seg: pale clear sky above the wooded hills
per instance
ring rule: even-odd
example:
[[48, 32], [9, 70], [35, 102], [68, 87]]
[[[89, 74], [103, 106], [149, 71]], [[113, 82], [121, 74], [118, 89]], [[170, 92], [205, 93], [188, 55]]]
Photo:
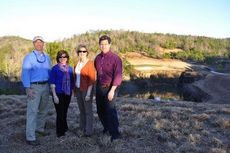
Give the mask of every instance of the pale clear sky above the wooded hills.
[[229, 0], [1, 0], [0, 36], [47, 41], [94, 30], [230, 37]]

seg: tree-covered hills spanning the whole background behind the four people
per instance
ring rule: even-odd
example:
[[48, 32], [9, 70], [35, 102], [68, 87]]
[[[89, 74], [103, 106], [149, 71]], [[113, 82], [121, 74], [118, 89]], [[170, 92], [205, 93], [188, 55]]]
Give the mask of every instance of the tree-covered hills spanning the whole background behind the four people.
[[[209, 62], [213, 58], [230, 57], [230, 38], [215, 39], [201, 36], [185, 36], [175, 34], [141, 33], [135, 31], [91, 31], [73, 35], [62, 41], [47, 42], [46, 51], [53, 61], [58, 50], [66, 49], [70, 56], [76, 56], [74, 49], [79, 43], [86, 43], [91, 51], [91, 57], [98, 51], [98, 38], [108, 34], [112, 38], [113, 50], [140, 52], [153, 58], [177, 58]], [[20, 74], [24, 55], [32, 49], [31, 40], [17, 36], [0, 37], [0, 72], [9, 78]], [[125, 57], [125, 56], [123, 56]], [[74, 62], [72, 58], [71, 63]], [[125, 60], [125, 59], [123, 59]]]

